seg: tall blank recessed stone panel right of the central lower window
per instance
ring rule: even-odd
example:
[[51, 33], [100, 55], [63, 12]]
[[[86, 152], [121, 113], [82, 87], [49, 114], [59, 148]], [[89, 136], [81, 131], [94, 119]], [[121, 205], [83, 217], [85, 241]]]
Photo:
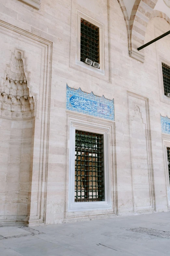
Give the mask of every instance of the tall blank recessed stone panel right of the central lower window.
[[128, 93], [134, 213], [155, 211], [148, 98]]

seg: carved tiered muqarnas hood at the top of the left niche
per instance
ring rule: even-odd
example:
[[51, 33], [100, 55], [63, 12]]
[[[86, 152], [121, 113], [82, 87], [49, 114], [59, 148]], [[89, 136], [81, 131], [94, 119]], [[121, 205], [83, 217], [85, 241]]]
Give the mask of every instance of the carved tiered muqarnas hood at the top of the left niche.
[[[28, 111], [31, 111], [31, 115], [34, 115], [35, 103], [33, 96], [30, 95], [28, 83], [29, 72], [27, 72], [24, 51], [15, 49], [10, 64], [7, 65], [5, 76], [1, 79], [1, 114], [4, 111], [11, 111], [13, 117], [21, 117], [22, 115], [18, 112], [26, 112], [24, 117], [30, 117]], [[17, 112], [15, 115], [14, 111]]]

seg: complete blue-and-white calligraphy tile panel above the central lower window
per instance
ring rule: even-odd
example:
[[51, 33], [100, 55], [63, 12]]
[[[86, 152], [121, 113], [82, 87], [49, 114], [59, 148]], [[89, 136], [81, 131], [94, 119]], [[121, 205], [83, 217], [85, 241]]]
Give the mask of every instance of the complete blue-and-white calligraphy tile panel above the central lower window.
[[66, 109], [114, 121], [114, 99], [99, 97], [67, 85]]

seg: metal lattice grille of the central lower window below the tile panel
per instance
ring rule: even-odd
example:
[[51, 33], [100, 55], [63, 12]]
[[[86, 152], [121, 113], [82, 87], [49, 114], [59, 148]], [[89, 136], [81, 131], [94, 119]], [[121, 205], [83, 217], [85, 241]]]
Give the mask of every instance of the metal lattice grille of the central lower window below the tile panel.
[[76, 130], [75, 202], [104, 200], [103, 135]]

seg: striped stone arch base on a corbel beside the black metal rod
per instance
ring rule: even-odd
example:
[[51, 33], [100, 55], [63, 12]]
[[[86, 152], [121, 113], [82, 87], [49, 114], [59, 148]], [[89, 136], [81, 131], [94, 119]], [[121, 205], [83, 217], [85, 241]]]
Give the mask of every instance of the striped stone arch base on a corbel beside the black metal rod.
[[[152, 15], [155, 15], [156, 13], [153, 9], [158, 0], [135, 0], [130, 18], [128, 17], [124, 1], [118, 0], [118, 2], [123, 12], [128, 31], [129, 55], [136, 60], [144, 62], [144, 49], [138, 51], [137, 48], [144, 44], [146, 28]], [[160, 11], [157, 11], [156, 15], [163, 14], [161, 14]], [[167, 17], [167, 20], [168, 19], [169, 18]]]

